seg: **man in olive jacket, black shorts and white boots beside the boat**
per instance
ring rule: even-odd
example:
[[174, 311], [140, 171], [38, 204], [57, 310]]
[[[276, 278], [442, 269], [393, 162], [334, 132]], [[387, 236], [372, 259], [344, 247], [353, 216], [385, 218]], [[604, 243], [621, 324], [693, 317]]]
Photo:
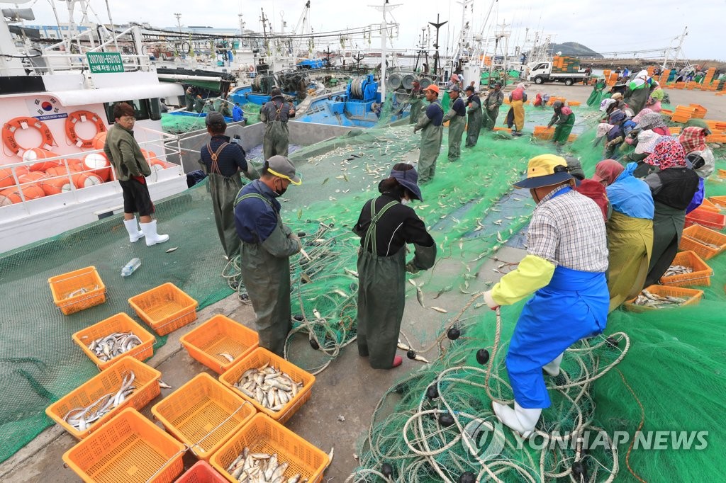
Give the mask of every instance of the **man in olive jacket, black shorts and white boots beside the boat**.
[[[145, 236], [147, 246], [163, 243], [169, 236], [157, 234], [156, 220], [151, 218], [154, 203], [146, 184], [151, 168], [141, 152], [141, 146], [134, 139], [134, 108], [126, 102], [118, 102], [113, 106], [113, 118], [115, 123], [108, 130], [103, 152], [123, 190], [123, 225], [129, 232], [129, 241], [134, 243]], [[136, 212], [139, 213], [141, 231], [136, 227]]]

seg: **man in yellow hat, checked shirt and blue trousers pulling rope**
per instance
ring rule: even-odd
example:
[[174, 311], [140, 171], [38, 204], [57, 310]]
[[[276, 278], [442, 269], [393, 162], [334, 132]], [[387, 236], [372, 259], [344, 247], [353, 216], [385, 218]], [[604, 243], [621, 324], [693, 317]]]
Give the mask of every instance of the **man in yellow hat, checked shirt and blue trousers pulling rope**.
[[518, 268], [484, 293], [495, 310], [534, 293], [512, 334], [506, 365], [514, 408], [492, 401], [503, 424], [529, 437], [550, 407], [542, 370], [558, 376], [563, 352], [579, 339], [602, 333], [608, 318], [608, 241], [603, 214], [574, 187], [567, 162], [554, 154], [529, 160], [529, 189], [537, 203], [527, 232], [527, 255]]

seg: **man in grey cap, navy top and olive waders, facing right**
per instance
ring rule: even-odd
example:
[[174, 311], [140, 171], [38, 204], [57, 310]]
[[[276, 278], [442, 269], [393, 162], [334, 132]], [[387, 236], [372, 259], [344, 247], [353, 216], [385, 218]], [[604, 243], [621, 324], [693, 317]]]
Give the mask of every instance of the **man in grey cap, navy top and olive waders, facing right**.
[[255, 310], [260, 346], [282, 355], [290, 319], [290, 255], [302, 249], [298, 236], [282, 223], [280, 202], [290, 184], [301, 184], [284, 156], [265, 161], [262, 176], [240, 190], [234, 224], [242, 240], [240, 273]]

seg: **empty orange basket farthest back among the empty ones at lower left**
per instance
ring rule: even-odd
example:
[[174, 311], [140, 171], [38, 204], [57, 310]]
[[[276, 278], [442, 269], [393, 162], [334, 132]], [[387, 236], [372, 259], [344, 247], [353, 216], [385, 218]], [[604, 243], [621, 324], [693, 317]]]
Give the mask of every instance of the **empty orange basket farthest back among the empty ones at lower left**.
[[129, 305], [157, 334], [166, 335], [195, 321], [199, 303], [176, 285], [166, 283], [134, 295]]

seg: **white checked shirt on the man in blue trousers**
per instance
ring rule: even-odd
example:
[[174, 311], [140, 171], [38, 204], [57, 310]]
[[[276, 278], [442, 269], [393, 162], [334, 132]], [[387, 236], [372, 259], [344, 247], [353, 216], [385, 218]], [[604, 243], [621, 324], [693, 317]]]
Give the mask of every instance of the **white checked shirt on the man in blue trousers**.
[[561, 186], [534, 208], [527, 252], [555, 265], [582, 272], [608, 269], [603, 213], [592, 199]]

